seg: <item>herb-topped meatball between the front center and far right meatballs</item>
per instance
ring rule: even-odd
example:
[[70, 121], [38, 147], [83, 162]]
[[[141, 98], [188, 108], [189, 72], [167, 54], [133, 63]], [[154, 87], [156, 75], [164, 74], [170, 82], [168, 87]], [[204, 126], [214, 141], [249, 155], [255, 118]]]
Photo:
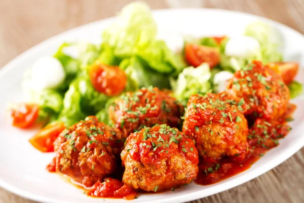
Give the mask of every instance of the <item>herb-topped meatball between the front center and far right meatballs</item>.
[[201, 156], [245, 158], [247, 120], [234, 104], [236, 102], [226, 93], [189, 98], [182, 131], [196, 141]]

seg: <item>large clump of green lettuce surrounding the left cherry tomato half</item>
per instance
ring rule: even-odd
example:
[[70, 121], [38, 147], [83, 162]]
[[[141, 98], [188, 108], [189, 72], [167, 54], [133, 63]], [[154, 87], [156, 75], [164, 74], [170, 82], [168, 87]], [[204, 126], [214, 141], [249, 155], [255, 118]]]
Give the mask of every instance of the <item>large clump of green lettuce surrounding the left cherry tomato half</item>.
[[115, 97], [95, 90], [88, 71], [95, 60], [117, 65], [128, 82], [125, 91], [155, 86], [171, 89], [169, 77], [177, 76], [187, 64], [181, 54], [172, 52], [156, 39], [157, 24], [144, 3], [123, 8], [115, 23], [102, 33], [102, 44], [63, 43], [54, 54], [65, 71], [64, 82], [56, 89], [34, 91], [42, 119], [57, 120], [70, 126], [88, 115], [108, 123], [106, 110]]

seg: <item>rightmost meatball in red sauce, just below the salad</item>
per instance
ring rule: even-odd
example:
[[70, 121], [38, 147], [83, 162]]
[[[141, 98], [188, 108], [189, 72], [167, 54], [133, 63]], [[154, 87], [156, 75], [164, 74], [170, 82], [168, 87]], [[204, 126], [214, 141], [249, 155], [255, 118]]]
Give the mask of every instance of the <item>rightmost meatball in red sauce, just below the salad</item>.
[[238, 101], [239, 109], [251, 117], [277, 119], [287, 110], [288, 87], [278, 73], [258, 61], [235, 72], [227, 83], [227, 92]]

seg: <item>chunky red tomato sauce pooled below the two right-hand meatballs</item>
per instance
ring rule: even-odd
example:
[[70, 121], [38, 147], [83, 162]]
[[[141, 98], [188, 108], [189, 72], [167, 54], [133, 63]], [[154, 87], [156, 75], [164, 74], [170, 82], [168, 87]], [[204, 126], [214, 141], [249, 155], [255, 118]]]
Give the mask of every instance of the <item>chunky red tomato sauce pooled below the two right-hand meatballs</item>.
[[210, 185], [248, 170], [267, 151], [279, 145], [279, 139], [288, 134], [291, 127], [286, 122], [292, 120], [291, 115], [295, 108], [295, 105], [289, 104], [282, 118], [278, 120], [257, 119], [249, 127], [249, 149], [248, 155], [244, 160], [238, 161], [238, 157], [224, 157], [219, 160], [201, 158], [199, 161], [199, 173], [195, 182], [200, 185]]

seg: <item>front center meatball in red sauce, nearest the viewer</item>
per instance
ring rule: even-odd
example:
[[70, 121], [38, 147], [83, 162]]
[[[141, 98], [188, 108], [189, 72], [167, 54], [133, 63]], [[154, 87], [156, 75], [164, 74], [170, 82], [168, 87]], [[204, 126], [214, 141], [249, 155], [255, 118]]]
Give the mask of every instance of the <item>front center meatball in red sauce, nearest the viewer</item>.
[[166, 124], [131, 133], [121, 154], [123, 182], [144, 191], [161, 191], [191, 183], [198, 173], [194, 141]]

